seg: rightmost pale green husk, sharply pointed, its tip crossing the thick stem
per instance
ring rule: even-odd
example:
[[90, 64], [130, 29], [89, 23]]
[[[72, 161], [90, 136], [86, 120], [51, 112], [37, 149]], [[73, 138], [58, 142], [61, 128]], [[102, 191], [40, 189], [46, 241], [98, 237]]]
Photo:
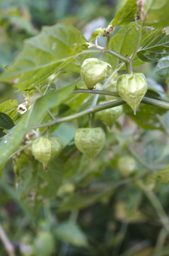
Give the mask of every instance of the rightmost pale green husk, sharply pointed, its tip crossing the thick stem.
[[117, 80], [117, 92], [127, 104], [132, 107], [134, 114], [147, 91], [147, 82], [144, 74], [121, 75]]

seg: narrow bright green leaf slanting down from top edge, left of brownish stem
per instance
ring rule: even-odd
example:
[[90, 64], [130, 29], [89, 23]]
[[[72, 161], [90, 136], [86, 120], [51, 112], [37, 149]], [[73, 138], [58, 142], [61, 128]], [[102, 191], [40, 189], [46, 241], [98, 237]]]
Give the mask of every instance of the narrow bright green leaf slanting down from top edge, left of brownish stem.
[[117, 11], [115, 18], [110, 22], [113, 26], [124, 26], [134, 19], [136, 14], [136, 0], [127, 0], [122, 9]]

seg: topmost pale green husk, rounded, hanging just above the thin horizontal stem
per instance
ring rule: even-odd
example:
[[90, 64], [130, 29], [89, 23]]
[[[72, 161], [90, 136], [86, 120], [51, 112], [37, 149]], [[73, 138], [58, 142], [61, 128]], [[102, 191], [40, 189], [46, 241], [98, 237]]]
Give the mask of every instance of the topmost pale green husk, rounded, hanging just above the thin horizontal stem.
[[88, 58], [81, 65], [81, 78], [88, 89], [93, 89], [98, 82], [105, 80], [111, 72], [111, 65], [98, 60], [98, 58]]

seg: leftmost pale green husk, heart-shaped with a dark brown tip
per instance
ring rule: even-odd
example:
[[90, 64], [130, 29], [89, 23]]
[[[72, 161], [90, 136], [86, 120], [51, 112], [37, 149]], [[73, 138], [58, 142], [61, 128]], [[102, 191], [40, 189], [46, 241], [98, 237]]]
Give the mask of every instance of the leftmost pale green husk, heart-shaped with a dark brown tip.
[[49, 161], [52, 161], [54, 158], [59, 156], [61, 151], [62, 142], [56, 137], [52, 137], [50, 139], [38, 137], [32, 145], [33, 156], [42, 163], [45, 170], [47, 170], [47, 164], [49, 164]]

